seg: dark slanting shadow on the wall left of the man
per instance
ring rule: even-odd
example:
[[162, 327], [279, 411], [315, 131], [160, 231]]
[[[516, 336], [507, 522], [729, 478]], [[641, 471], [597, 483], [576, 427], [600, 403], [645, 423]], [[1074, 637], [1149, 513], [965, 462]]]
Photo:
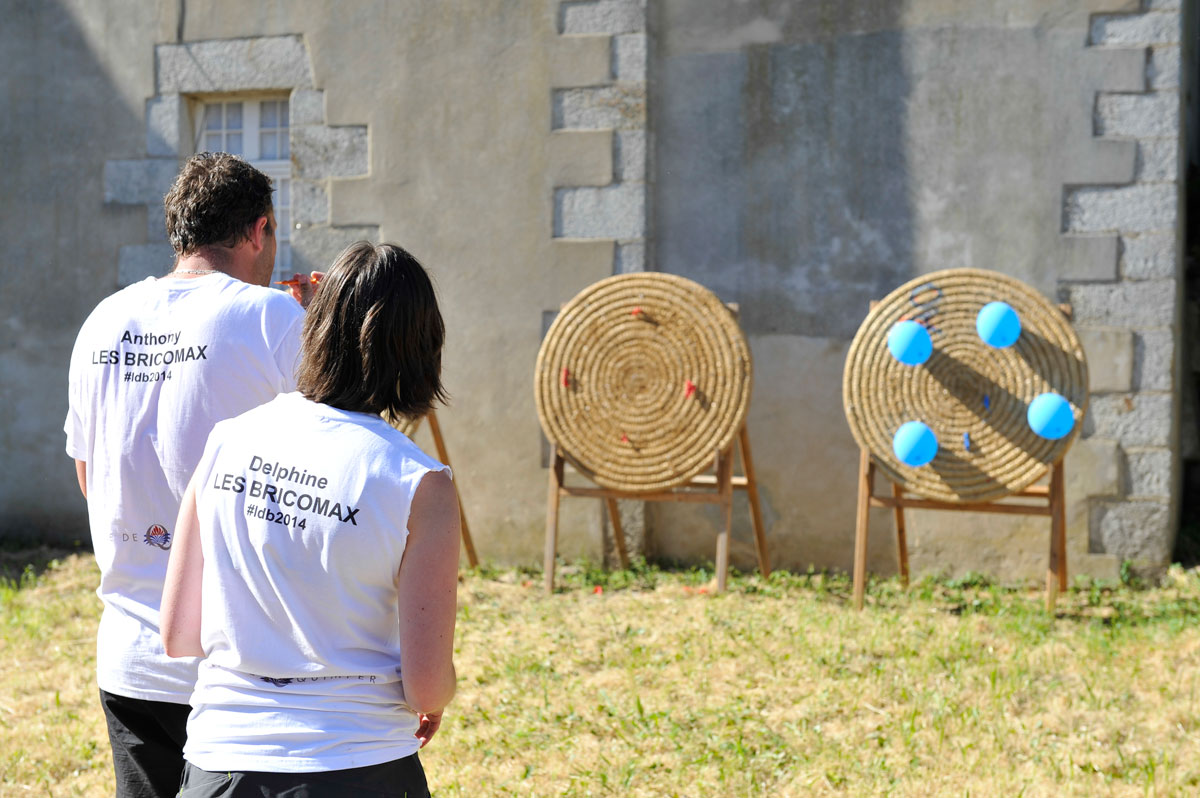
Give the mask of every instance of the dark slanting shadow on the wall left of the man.
[[88, 312], [116, 287], [119, 245], [145, 236], [144, 209], [104, 206], [102, 185], [106, 158], [144, 152], [145, 127], [97, 58], [79, 14], [106, 10], [0, 2], [5, 545], [89, 540], [74, 467], [64, 452], [71, 346]]

